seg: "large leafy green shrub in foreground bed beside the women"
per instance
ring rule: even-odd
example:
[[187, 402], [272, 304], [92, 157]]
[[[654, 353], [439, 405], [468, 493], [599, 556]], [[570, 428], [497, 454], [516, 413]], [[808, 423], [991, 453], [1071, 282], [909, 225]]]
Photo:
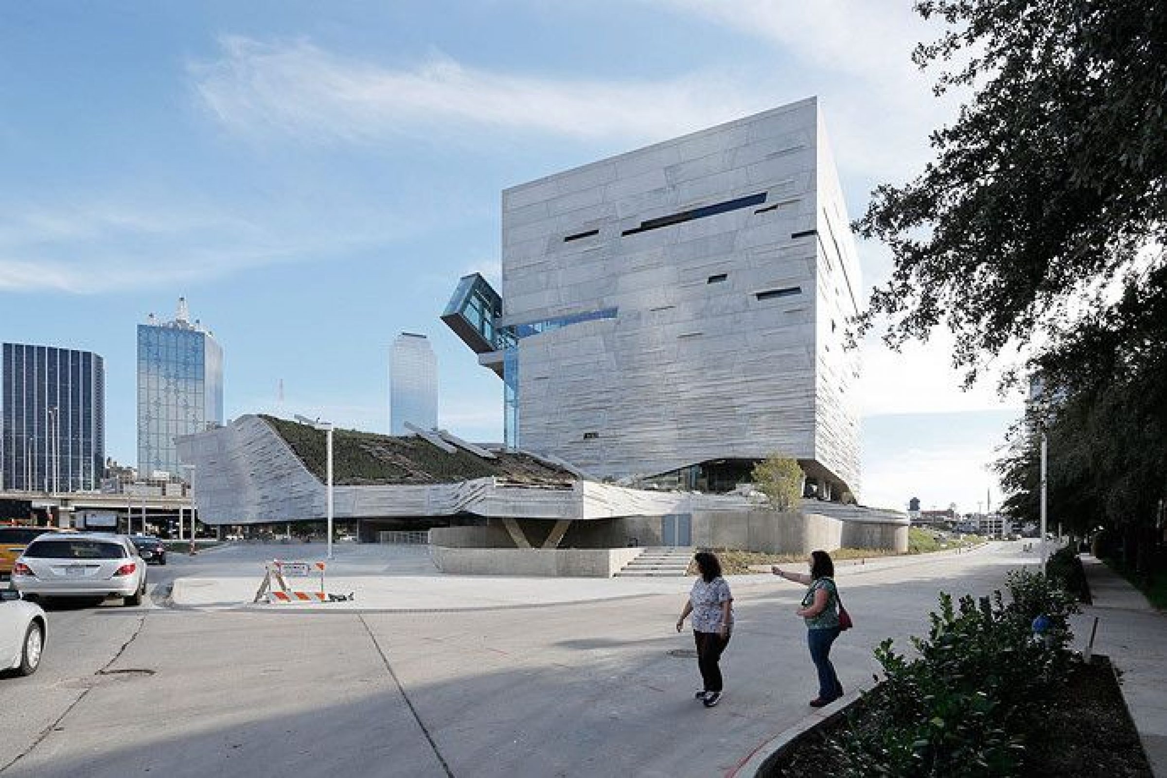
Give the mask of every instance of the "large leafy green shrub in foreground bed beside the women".
[[[942, 594], [918, 657], [883, 640], [875, 658], [885, 681], [832, 744], [847, 778], [864, 776], [1014, 776], [1023, 771], [1023, 735], [1042, 700], [1063, 678], [1072, 638], [1072, 597], [1043, 574], [1011, 573], [1012, 602], [1000, 591], [953, 602]], [[1033, 619], [1050, 628], [1035, 639]], [[876, 679], [878, 680], [878, 679]]]

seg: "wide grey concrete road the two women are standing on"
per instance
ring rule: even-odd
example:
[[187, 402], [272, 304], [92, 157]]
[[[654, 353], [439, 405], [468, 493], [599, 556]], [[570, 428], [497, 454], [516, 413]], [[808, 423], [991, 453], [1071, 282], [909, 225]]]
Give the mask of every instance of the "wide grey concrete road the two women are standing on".
[[[922, 632], [937, 591], [1001, 587], [1032, 562], [1020, 548], [840, 568], [857, 622], [832, 654], [844, 685], [871, 681], [881, 638]], [[410, 614], [158, 602], [212, 565], [151, 568], [159, 596], [141, 608], [54, 608], [37, 674], [0, 679], [0, 776], [726, 775], [816, 692], [802, 589], [773, 577], [735, 591], [726, 696], [706, 710], [692, 637], [672, 628], [682, 596]]]

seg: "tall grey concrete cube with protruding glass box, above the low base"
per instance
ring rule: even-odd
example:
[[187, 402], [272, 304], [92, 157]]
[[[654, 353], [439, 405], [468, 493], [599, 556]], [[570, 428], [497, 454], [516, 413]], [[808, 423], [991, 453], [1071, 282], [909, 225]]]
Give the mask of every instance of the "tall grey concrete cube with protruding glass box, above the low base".
[[859, 262], [815, 98], [520, 184], [502, 289], [442, 318], [504, 381], [508, 446], [721, 491], [775, 451], [859, 496]]

